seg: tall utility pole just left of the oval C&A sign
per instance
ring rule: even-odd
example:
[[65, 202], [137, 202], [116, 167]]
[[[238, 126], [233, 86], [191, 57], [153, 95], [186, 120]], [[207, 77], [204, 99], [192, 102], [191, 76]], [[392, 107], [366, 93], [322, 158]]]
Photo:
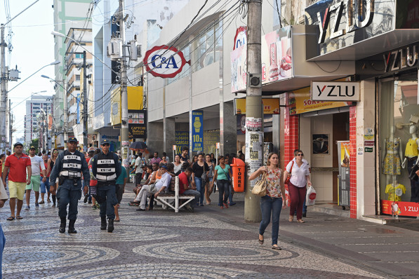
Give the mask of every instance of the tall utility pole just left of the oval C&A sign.
[[121, 156], [123, 167], [126, 173], [129, 173], [128, 162], [128, 92], [126, 88], [126, 51], [125, 51], [125, 17], [124, 0], [119, 0], [119, 32], [122, 40], [122, 58], [121, 58]]

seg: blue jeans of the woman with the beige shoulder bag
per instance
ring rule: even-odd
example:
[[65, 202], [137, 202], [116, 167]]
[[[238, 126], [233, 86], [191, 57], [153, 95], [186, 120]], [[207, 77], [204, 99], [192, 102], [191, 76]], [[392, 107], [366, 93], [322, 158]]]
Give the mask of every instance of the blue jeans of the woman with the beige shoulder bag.
[[262, 222], [259, 226], [259, 234], [263, 236], [267, 225], [271, 221], [272, 212], [272, 245], [278, 244], [279, 215], [281, 215], [282, 198], [271, 198], [264, 196], [260, 198], [260, 209], [262, 210]]

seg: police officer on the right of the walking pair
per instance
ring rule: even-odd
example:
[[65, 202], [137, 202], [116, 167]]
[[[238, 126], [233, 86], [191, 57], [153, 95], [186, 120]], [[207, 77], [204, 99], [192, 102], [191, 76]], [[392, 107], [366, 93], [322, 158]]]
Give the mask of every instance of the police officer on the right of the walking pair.
[[121, 163], [117, 154], [109, 151], [109, 140], [103, 140], [100, 144], [102, 152], [93, 157], [92, 172], [98, 179], [98, 193], [96, 200], [100, 205], [100, 229], [106, 229], [106, 217], [109, 224], [107, 232], [114, 231], [115, 211], [117, 205], [116, 182], [121, 175]]

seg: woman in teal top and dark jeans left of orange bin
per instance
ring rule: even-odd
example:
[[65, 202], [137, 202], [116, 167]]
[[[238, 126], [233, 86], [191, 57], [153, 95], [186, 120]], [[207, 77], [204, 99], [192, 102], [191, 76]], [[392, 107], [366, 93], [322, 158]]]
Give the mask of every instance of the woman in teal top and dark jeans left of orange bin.
[[228, 175], [230, 177], [232, 176], [232, 170], [230, 169], [230, 165], [225, 164], [225, 158], [224, 156], [218, 156], [218, 163], [214, 170], [214, 178], [211, 182], [210, 189], [213, 189], [214, 181], [217, 180], [217, 186], [218, 186], [218, 203], [220, 204], [221, 209], [222, 208], [228, 208], [227, 200], [228, 196], [230, 195], [230, 182], [228, 180]]

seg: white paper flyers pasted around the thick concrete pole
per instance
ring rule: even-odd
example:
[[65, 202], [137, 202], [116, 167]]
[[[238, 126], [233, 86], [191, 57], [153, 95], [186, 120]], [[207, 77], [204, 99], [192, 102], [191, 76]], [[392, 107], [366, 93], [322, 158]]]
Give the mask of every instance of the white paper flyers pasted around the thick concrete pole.
[[[246, 163], [248, 172], [253, 173], [263, 164], [262, 118], [246, 117]], [[257, 179], [251, 181], [255, 186]]]

